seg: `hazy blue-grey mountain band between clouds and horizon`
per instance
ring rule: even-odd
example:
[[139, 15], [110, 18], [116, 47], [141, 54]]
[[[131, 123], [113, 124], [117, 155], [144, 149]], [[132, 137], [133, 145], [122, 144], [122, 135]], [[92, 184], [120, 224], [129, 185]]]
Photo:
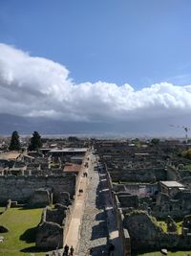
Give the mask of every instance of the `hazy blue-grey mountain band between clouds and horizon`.
[[[11, 114], [0, 114], [0, 134], [9, 135], [13, 130], [19, 134], [32, 134], [37, 130], [41, 134], [96, 134], [135, 136], [181, 136], [185, 133], [183, 128], [172, 128], [169, 125], [189, 126], [188, 117], [163, 119], [142, 119], [128, 122], [88, 123], [66, 122], [49, 118], [21, 117]], [[188, 133], [189, 135], [189, 133]]]

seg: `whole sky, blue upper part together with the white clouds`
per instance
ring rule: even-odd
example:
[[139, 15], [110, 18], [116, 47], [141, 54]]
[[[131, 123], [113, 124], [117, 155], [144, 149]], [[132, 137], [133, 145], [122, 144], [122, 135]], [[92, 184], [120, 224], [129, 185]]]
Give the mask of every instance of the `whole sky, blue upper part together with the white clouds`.
[[0, 0], [0, 113], [189, 116], [190, 0]]

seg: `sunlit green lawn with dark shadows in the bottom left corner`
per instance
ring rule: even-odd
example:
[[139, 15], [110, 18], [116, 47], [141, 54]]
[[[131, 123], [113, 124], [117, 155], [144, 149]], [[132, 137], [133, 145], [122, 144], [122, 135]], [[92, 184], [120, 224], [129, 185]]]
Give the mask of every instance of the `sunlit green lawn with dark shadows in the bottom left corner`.
[[[4, 243], [0, 244], [0, 254], [6, 256], [45, 255], [35, 247], [35, 227], [40, 221], [42, 208], [11, 208], [0, 215], [0, 225], [10, 231], [1, 234]], [[38, 253], [39, 252], [39, 253]]]

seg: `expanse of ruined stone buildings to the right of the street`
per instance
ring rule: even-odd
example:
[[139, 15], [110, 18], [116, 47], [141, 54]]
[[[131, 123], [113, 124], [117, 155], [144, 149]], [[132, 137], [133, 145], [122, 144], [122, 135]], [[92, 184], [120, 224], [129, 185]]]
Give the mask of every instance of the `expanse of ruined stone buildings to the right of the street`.
[[180, 155], [188, 146], [168, 141], [95, 145], [108, 173], [125, 255], [130, 255], [128, 246], [133, 255], [190, 250], [191, 161]]

